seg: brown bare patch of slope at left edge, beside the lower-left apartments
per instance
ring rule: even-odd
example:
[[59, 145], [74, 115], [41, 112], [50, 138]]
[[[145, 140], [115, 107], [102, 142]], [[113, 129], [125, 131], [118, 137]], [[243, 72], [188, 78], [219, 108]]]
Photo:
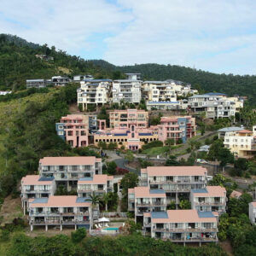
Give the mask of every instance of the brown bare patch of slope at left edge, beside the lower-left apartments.
[[11, 195], [3, 201], [0, 211], [1, 224], [12, 223], [14, 218], [24, 218], [20, 197], [12, 198]]

